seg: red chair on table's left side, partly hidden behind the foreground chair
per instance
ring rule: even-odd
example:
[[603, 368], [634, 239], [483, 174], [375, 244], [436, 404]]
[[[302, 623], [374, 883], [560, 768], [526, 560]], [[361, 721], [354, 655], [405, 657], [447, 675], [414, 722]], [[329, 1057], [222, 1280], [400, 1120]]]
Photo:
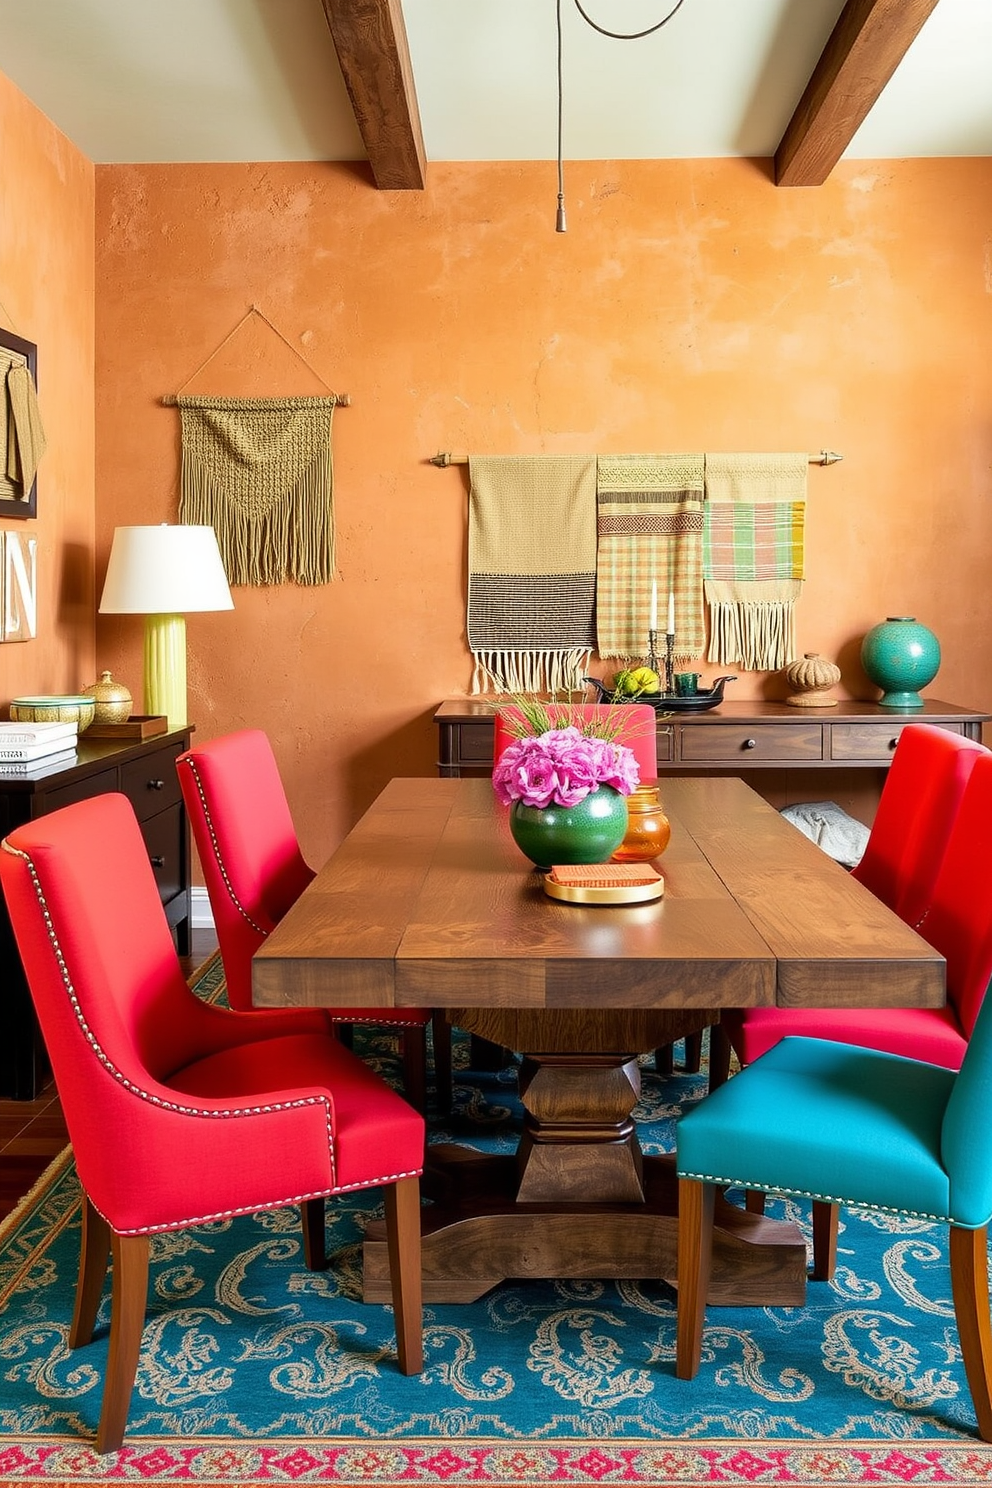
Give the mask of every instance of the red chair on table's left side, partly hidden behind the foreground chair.
[[[280, 769], [260, 729], [226, 734], [180, 754], [175, 768], [207, 882], [232, 1007], [251, 1007], [251, 957], [309, 881]], [[338, 1025], [394, 1028], [410, 1101], [427, 1104], [427, 1007], [327, 1007]], [[443, 1019], [437, 1019], [440, 1025]], [[451, 1103], [451, 1030], [434, 1030], [439, 1104]]]

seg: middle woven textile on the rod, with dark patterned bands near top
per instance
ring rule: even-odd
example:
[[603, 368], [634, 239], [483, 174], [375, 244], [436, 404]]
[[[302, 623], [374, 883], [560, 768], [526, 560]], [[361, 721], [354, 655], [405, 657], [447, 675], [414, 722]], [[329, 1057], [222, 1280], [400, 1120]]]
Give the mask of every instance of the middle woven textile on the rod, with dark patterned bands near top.
[[702, 454], [599, 455], [596, 469], [596, 635], [601, 656], [647, 653], [651, 588], [657, 629], [675, 597], [675, 665], [705, 644]]

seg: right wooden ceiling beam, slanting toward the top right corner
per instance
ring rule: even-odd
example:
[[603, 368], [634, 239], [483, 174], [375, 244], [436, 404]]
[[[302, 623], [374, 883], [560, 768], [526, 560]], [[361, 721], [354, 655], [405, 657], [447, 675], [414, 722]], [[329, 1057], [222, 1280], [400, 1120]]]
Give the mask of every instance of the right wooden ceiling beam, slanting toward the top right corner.
[[776, 186], [822, 186], [937, 0], [848, 0], [775, 152]]

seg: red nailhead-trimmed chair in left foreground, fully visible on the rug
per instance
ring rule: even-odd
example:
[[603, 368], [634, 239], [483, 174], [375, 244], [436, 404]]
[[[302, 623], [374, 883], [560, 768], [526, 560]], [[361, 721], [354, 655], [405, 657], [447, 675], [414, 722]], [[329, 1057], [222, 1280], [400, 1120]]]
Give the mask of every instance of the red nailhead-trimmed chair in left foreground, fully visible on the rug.
[[326, 1019], [189, 990], [125, 796], [18, 827], [0, 881], [85, 1195], [73, 1348], [92, 1338], [113, 1251], [97, 1449], [123, 1437], [162, 1231], [300, 1205], [317, 1266], [324, 1198], [382, 1186], [399, 1362], [419, 1373], [422, 1116]]

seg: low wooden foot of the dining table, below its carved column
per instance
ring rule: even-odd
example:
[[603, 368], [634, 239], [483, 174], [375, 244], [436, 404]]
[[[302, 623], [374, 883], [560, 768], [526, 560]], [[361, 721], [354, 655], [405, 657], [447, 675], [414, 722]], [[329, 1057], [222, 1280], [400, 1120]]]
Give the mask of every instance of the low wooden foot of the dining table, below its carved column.
[[[672, 1158], [644, 1158], [641, 1204], [519, 1204], [518, 1164], [468, 1147], [430, 1150], [422, 1211], [424, 1301], [476, 1302], [501, 1281], [544, 1277], [677, 1278], [678, 1184]], [[364, 1238], [366, 1302], [390, 1302], [385, 1223]], [[803, 1306], [806, 1245], [796, 1225], [717, 1199], [714, 1306]]]

